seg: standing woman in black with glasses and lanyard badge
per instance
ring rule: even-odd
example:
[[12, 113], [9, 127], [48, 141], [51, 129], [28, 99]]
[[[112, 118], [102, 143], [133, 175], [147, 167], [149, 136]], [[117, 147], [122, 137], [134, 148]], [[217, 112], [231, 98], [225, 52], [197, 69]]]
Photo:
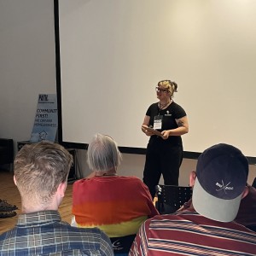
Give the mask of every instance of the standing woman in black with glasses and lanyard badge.
[[[152, 198], [161, 174], [166, 185], [178, 185], [179, 167], [183, 160], [181, 136], [189, 132], [189, 122], [184, 109], [172, 97], [177, 84], [163, 80], [155, 88], [159, 102], [153, 103], [146, 113], [142, 131], [149, 136], [143, 182]], [[160, 131], [155, 135], [149, 128]]]

